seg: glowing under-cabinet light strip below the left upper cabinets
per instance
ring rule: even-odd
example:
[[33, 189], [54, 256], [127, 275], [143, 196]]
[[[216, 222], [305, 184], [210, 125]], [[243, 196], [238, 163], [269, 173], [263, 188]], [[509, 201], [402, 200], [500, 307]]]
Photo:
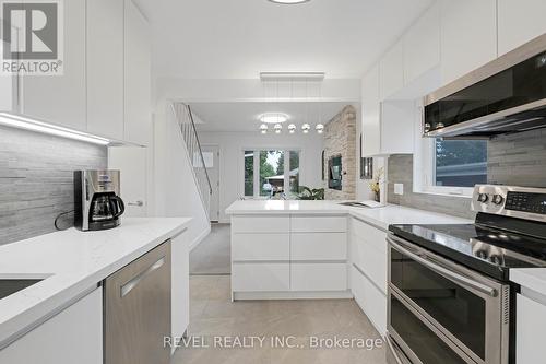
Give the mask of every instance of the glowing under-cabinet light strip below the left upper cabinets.
[[100, 145], [107, 145], [110, 143], [110, 140], [106, 138], [38, 121], [16, 114], [0, 113], [0, 125], [17, 129], [31, 130], [35, 132], [41, 132], [61, 138], [74, 139], [86, 143], [94, 143]]

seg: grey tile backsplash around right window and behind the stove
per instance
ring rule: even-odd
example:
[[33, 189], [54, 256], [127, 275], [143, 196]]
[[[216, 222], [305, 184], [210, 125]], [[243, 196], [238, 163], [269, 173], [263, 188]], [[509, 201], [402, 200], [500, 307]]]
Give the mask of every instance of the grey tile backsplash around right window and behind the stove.
[[[546, 129], [500, 136], [487, 144], [488, 183], [546, 188]], [[413, 155], [389, 157], [389, 203], [474, 219], [467, 198], [414, 193]], [[404, 184], [404, 195], [394, 195]]]

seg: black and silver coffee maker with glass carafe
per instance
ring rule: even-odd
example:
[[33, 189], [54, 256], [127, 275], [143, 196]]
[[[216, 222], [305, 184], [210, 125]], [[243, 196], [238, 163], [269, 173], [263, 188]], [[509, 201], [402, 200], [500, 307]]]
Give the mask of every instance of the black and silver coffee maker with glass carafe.
[[82, 231], [119, 226], [126, 210], [119, 197], [119, 171], [75, 171], [74, 204], [74, 224]]

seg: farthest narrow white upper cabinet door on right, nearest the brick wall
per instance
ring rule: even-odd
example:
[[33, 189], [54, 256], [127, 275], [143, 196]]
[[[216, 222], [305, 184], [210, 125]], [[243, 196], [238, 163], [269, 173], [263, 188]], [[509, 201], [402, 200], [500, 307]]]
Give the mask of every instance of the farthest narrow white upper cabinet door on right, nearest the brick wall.
[[381, 107], [379, 102], [379, 67], [363, 79], [363, 156], [379, 154], [381, 149]]

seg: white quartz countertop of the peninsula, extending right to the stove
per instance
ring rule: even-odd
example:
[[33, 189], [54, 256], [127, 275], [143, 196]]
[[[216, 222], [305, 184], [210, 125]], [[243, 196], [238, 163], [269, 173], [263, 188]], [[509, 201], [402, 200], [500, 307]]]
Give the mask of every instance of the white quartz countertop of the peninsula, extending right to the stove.
[[229, 215], [247, 214], [348, 214], [384, 231], [390, 224], [470, 224], [471, 220], [395, 204], [353, 208], [340, 201], [240, 200], [226, 209]]

